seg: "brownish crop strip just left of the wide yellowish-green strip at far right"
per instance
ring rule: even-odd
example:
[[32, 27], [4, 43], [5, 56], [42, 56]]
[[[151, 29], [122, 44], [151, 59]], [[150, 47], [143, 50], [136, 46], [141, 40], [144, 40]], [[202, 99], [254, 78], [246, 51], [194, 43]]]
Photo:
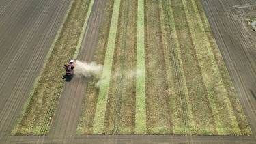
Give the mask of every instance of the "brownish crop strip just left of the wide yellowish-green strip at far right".
[[177, 38], [182, 55], [184, 76], [188, 87], [188, 101], [191, 105], [194, 128], [190, 128], [191, 134], [217, 134], [215, 121], [212, 114], [208, 93], [201, 73], [201, 67], [195, 53], [195, 46], [190, 35], [185, 8], [182, 1], [171, 0], [173, 17], [177, 31]]

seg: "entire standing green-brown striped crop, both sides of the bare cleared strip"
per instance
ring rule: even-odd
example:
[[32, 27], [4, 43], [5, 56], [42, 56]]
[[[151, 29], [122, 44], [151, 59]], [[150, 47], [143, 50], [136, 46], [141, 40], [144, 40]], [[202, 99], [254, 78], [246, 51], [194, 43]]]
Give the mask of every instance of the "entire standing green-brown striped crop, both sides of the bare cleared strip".
[[[93, 3], [72, 1], [48, 63], [77, 55]], [[93, 61], [76, 134], [252, 135], [200, 0], [106, 1]], [[49, 132], [65, 82], [44, 70], [14, 135]]]

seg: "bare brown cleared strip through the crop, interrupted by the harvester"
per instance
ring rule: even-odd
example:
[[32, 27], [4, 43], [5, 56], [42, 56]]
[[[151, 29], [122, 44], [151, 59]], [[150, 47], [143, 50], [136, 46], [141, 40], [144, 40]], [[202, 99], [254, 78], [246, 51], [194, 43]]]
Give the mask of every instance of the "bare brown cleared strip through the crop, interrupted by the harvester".
[[[94, 5], [92, 6], [85, 34], [83, 35], [83, 41], [79, 49], [79, 55], [77, 57], [80, 61], [87, 62], [91, 62], [94, 55], [98, 31], [102, 20], [102, 10], [104, 10], [104, 3], [106, 1], [98, 0], [91, 2], [94, 2]], [[86, 87], [87, 78], [83, 77], [74, 77], [72, 81], [65, 84], [50, 130], [52, 136], [59, 137], [59, 139], [57, 139], [59, 143], [65, 142], [63, 141], [62, 136], [72, 137], [76, 133]], [[72, 143], [72, 141], [68, 141], [68, 143]]]

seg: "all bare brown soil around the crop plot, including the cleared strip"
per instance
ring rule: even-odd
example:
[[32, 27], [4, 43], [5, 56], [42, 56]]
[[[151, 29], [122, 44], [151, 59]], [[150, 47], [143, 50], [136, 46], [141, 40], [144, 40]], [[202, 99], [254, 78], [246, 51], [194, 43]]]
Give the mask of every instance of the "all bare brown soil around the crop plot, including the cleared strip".
[[[255, 135], [256, 47], [253, 44], [256, 34], [249, 30], [245, 19], [256, 17], [253, 13], [256, 3], [254, 0], [201, 1]], [[8, 63], [0, 71], [4, 81], [0, 84], [1, 143], [255, 143], [255, 136], [75, 136], [87, 81], [83, 78], [79, 83], [66, 83], [49, 136], [10, 136], [69, 2], [0, 0], [0, 60]], [[104, 3], [94, 3], [79, 51], [81, 60], [92, 59]]]

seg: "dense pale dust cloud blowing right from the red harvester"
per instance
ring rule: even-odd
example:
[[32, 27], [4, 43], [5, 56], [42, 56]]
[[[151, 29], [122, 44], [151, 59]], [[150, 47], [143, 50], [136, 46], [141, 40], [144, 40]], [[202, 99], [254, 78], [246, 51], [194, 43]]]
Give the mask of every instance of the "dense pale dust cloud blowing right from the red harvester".
[[86, 63], [76, 60], [76, 66], [74, 68], [74, 74], [76, 76], [84, 76], [86, 78], [94, 76], [100, 79], [102, 74], [102, 65], [96, 64], [94, 62]]

